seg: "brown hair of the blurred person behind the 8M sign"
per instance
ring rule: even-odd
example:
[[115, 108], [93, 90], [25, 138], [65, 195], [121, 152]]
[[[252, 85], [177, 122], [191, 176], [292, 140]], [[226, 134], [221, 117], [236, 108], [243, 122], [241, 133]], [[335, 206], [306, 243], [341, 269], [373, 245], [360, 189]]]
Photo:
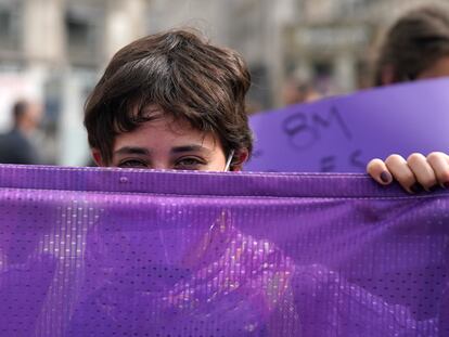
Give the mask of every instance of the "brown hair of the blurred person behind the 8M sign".
[[374, 85], [382, 86], [386, 66], [393, 81], [414, 80], [440, 57], [449, 55], [449, 14], [424, 7], [401, 16], [388, 30], [374, 69]]

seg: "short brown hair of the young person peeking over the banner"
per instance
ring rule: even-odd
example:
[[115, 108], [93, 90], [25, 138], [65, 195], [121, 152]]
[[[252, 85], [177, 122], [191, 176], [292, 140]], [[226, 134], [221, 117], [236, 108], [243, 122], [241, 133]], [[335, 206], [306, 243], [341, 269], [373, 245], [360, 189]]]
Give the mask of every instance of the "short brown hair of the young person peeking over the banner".
[[108, 165], [115, 137], [155, 118], [159, 106], [175, 119], [218, 137], [226, 154], [252, 152], [245, 113], [251, 76], [233, 50], [218, 48], [197, 33], [170, 30], [139, 39], [119, 50], [88, 98], [85, 126], [91, 147]]

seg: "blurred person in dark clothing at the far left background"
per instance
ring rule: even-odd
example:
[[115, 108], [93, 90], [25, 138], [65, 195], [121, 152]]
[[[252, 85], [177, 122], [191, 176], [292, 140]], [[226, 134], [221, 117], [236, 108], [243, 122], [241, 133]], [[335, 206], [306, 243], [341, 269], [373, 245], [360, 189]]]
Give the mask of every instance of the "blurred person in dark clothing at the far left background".
[[33, 141], [42, 118], [42, 107], [36, 102], [17, 101], [12, 108], [13, 127], [0, 135], [0, 163], [36, 165], [41, 163]]

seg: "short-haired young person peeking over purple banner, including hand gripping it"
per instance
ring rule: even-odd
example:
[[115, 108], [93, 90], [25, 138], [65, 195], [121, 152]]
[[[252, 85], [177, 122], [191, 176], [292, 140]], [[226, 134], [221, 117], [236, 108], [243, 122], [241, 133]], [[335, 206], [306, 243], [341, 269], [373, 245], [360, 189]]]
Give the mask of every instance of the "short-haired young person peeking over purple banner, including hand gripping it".
[[[118, 51], [86, 104], [99, 166], [239, 171], [252, 153], [245, 114], [251, 76], [242, 57], [185, 30], [139, 39]], [[368, 172], [408, 192], [449, 183], [448, 156], [375, 159]]]

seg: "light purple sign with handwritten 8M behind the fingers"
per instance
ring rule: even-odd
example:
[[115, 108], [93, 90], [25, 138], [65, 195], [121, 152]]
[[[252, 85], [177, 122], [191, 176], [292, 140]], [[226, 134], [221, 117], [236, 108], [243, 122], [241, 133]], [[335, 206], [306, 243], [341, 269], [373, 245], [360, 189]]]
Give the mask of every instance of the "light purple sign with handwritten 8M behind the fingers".
[[449, 151], [449, 79], [255, 115], [251, 171], [364, 172], [372, 158]]

